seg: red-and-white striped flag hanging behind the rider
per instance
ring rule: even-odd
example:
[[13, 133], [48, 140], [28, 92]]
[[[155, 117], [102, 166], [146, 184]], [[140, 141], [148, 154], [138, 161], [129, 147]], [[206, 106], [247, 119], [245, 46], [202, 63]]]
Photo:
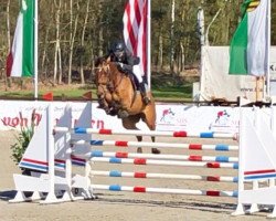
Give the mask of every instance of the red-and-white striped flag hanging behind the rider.
[[[142, 76], [147, 75], [147, 17], [148, 0], [129, 0], [123, 17], [124, 40], [127, 49], [140, 57]], [[148, 73], [150, 74], [150, 73]]]

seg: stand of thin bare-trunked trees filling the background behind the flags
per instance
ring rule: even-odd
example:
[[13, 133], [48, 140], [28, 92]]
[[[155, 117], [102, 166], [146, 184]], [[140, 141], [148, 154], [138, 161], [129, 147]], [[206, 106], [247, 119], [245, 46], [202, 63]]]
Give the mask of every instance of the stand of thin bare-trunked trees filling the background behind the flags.
[[[127, 0], [39, 1], [39, 77], [53, 84], [85, 84], [94, 60], [123, 38]], [[202, 7], [211, 45], [229, 45], [237, 27], [243, 0], [151, 0], [151, 62], [160, 72], [180, 73], [200, 61], [197, 13]], [[276, 44], [276, 1], [272, 2], [272, 44]], [[0, 1], [0, 71], [4, 72], [19, 1]], [[74, 73], [74, 78], [72, 74]], [[3, 74], [0, 74], [0, 78]]]

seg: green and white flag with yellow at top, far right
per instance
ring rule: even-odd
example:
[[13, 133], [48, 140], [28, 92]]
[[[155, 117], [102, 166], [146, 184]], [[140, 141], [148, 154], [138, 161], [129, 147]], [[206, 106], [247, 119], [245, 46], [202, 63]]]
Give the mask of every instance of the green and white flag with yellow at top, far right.
[[244, 0], [242, 21], [230, 45], [230, 74], [268, 73], [269, 0]]

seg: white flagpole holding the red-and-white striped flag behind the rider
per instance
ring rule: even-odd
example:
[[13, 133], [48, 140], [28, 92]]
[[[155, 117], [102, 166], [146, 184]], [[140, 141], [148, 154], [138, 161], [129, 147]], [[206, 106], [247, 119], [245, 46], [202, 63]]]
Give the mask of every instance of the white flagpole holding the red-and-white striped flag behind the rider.
[[147, 13], [147, 77], [148, 77], [148, 88], [151, 88], [151, 0], [146, 0], [148, 3]]

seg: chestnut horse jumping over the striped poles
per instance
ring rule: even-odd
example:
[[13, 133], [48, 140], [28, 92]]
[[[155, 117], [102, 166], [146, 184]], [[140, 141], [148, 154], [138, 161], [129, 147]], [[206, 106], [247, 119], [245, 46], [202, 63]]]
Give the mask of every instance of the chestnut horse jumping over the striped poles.
[[[95, 63], [95, 78], [99, 108], [106, 114], [121, 118], [126, 129], [138, 129], [136, 124], [141, 119], [150, 130], [156, 129], [156, 104], [152, 94], [148, 92], [151, 102], [145, 105], [140, 93], [131, 80], [132, 75], [118, 69], [109, 57], [100, 57]], [[138, 141], [141, 136], [136, 136]], [[151, 137], [155, 141], [155, 137]], [[138, 152], [142, 152], [138, 147]], [[152, 154], [160, 154], [157, 148], [151, 149]]]

